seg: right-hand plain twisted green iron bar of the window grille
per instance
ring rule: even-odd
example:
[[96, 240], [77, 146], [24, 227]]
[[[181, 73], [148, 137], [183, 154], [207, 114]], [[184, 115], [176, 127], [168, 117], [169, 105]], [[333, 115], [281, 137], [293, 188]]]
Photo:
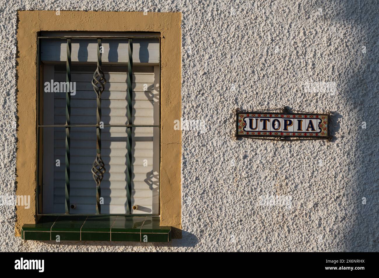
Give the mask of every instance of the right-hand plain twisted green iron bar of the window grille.
[[[133, 84], [133, 40], [128, 40], [128, 124], [132, 124], [132, 84]], [[127, 128], [128, 141], [128, 177], [127, 177], [127, 199], [128, 199], [128, 212], [132, 212], [132, 201], [131, 201], [131, 192], [132, 192], [132, 127]]]

